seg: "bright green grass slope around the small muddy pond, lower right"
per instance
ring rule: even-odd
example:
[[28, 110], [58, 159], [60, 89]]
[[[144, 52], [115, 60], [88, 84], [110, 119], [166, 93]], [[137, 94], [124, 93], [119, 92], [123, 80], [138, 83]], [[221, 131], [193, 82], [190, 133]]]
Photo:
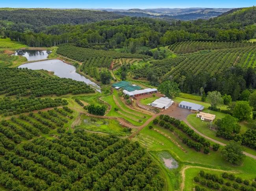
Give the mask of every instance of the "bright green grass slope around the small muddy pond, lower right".
[[[152, 125], [152, 123], [149, 125]], [[134, 139], [139, 141], [145, 148], [147, 148], [147, 151], [149, 151], [150, 154], [154, 152], [167, 151], [175, 158], [176, 161], [178, 161], [180, 167], [183, 167], [184, 165], [190, 165], [208, 167], [213, 169], [223, 169], [228, 171], [238, 171], [241, 177], [247, 176], [247, 179], [249, 180], [252, 180], [252, 178], [254, 178], [255, 176], [256, 160], [250, 157], [246, 157], [245, 161], [241, 166], [233, 166], [227, 163], [221, 157], [220, 151], [210, 151], [209, 155], [205, 155], [202, 152], [196, 152], [194, 149], [191, 149], [183, 144], [179, 140], [179, 138], [174, 136], [169, 130], [156, 126], [154, 126], [154, 128], [159, 129], [165, 134], [169, 135], [176, 142], [178, 142], [178, 144], [180, 144], [180, 146], [182, 146], [186, 150], [186, 152], [180, 149], [180, 147], [174, 144], [174, 142], [172, 142], [169, 138], [161, 135], [156, 131], [148, 129], [148, 127], [145, 127]], [[222, 148], [223, 147], [221, 147], [220, 149]], [[160, 172], [162, 172], [161, 175], [169, 179], [167, 180], [167, 182], [170, 184], [165, 190], [178, 190], [179, 186], [177, 186], [177, 183], [179, 183], [181, 180], [180, 174], [177, 173], [176, 176], [173, 176], [175, 174], [174, 170], [163, 168], [161, 167], [161, 165], [161, 162], [158, 162], [158, 166], [160, 166]], [[192, 178], [197, 175], [198, 169], [195, 170], [194, 168], [192, 168], [191, 171], [191, 173], [188, 170], [186, 171], [186, 177], [188, 177], [186, 178], [186, 191], [192, 190], [190, 189], [191, 187], [189, 187], [189, 185], [193, 186]]]

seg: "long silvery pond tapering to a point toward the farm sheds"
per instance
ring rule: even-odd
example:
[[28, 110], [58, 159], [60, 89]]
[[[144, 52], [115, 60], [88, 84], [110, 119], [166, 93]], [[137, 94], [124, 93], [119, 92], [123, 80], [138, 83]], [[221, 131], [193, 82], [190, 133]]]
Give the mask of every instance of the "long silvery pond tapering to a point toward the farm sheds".
[[91, 87], [95, 88], [96, 91], [100, 92], [100, 86], [92, 82], [91, 80], [85, 78], [84, 76], [76, 73], [76, 68], [73, 65], [67, 64], [61, 60], [44, 60], [39, 62], [31, 62], [27, 64], [22, 64], [19, 68], [28, 68], [32, 70], [44, 69], [47, 71], [54, 72], [54, 75], [60, 78], [71, 78], [76, 81], [85, 82]]

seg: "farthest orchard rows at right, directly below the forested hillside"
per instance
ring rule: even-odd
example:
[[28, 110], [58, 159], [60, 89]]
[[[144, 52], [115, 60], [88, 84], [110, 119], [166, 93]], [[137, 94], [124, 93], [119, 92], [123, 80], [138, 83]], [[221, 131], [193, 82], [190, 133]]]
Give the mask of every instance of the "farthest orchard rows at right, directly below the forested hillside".
[[211, 42], [211, 41], [184, 41], [176, 42], [169, 45], [174, 53], [193, 53], [200, 50], [215, 50], [215, 49], [226, 49], [226, 48], [241, 48], [255, 46], [256, 44], [249, 42]]

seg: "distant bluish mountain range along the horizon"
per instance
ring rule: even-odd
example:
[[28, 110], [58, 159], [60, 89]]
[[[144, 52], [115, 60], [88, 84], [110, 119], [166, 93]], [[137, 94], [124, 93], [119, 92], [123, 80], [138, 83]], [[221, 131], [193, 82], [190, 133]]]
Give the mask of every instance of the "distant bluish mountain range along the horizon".
[[117, 15], [142, 16], [162, 19], [196, 20], [219, 16], [232, 8], [156, 8], [156, 9], [96, 9]]

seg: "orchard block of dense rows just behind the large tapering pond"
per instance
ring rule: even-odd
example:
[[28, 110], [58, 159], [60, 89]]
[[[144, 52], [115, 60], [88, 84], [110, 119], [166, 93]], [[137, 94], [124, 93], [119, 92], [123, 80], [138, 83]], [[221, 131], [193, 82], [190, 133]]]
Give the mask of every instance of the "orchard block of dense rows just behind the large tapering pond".
[[70, 44], [60, 45], [57, 53], [73, 60], [84, 62], [85, 66], [110, 67], [113, 59], [118, 58], [148, 58], [146, 55], [118, 53], [116, 51], [104, 51], [89, 48], [76, 47]]

